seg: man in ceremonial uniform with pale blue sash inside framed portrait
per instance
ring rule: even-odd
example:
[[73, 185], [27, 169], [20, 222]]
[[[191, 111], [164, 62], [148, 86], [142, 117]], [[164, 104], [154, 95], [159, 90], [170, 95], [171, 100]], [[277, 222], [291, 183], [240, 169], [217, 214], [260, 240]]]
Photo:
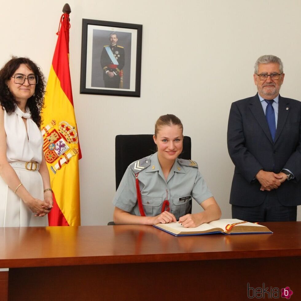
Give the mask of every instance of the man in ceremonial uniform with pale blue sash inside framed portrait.
[[109, 39], [111, 45], [105, 45], [100, 56], [100, 65], [104, 71], [104, 86], [122, 88], [124, 49], [123, 46], [117, 45], [116, 33], [111, 33]]

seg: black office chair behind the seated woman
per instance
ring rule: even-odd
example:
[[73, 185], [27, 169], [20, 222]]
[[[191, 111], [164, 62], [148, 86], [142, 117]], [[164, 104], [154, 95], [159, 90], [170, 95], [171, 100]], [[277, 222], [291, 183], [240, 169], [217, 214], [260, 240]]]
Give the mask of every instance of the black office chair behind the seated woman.
[[[116, 190], [127, 166], [136, 160], [154, 154], [156, 151], [157, 146], [154, 143], [153, 135], [117, 135], [115, 138]], [[191, 159], [191, 138], [189, 136], [184, 136], [183, 151], [179, 158]], [[191, 204], [192, 201], [190, 201]], [[108, 225], [115, 224], [109, 222]]]

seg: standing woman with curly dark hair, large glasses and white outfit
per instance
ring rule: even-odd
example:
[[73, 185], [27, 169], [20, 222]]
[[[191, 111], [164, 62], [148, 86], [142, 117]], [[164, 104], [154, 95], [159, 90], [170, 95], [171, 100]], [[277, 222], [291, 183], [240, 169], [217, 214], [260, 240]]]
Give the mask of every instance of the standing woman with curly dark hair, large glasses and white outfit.
[[0, 70], [0, 227], [48, 225], [53, 198], [39, 129], [44, 93], [44, 76], [29, 58], [13, 57]]

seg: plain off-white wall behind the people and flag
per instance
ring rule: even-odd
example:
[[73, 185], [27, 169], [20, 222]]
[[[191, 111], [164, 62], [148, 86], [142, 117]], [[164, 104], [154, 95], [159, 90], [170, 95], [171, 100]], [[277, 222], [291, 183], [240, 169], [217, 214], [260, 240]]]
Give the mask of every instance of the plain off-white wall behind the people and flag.
[[[301, 100], [299, 0], [70, 0], [70, 69], [83, 158], [80, 160], [82, 225], [112, 220], [115, 135], [151, 134], [156, 119], [180, 117], [192, 138], [192, 159], [231, 217], [233, 175], [226, 145], [233, 101], [255, 95], [253, 65], [275, 54], [286, 74], [282, 96]], [[28, 56], [45, 76], [53, 57], [65, 2], [3, 1], [0, 65]], [[82, 19], [143, 24], [141, 97], [79, 93]], [[194, 209], [196, 210], [197, 204]], [[298, 220], [301, 220], [299, 209]]]

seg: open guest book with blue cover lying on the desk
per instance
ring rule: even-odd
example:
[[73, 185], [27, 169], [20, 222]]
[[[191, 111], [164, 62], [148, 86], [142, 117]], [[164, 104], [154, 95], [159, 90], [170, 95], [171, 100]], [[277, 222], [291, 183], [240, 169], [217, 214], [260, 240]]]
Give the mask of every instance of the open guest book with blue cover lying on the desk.
[[175, 236], [202, 235], [202, 234], [248, 234], [248, 233], [273, 233], [267, 227], [241, 221], [238, 219], [225, 218], [210, 223], [201, 224], [195, 228], [184, 228], [180, 223], [156, 224], [154, 227], [166, 231]]

